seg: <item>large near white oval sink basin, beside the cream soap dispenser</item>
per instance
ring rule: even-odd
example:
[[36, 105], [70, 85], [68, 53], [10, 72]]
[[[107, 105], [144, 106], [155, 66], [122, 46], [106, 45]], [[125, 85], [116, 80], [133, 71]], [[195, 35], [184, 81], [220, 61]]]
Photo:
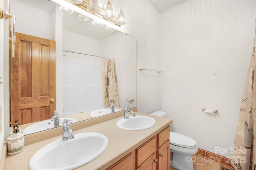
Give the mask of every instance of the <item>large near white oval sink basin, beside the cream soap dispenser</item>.
[[38, 150], [30, 159], [30, 170], [71, 170], [83, 166], [104, 152], [108, 138], [100, 133], [74, 134], [74, 139], [58, 139]]

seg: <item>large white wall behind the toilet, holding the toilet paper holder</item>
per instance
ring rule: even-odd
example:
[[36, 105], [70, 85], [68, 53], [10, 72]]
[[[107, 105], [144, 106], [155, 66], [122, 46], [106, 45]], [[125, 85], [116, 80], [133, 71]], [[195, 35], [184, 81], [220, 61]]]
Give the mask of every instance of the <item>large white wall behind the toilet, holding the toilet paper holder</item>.
[[173, 119], [172, 131], [223, 156], [234, 144], [255, 7], [255, 1], [186, 1], [161, 14], [161, 109]]

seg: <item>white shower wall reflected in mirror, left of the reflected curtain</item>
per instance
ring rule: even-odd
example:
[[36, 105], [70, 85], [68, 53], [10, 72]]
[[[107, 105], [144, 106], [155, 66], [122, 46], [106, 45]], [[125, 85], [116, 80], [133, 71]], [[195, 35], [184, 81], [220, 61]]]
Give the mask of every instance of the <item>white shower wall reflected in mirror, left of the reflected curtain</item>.
[[[64, 50], [100, 55], [100, 41], [63, 30]], [[63, 52], [63, 115], [103, 108], [101, 58]]]

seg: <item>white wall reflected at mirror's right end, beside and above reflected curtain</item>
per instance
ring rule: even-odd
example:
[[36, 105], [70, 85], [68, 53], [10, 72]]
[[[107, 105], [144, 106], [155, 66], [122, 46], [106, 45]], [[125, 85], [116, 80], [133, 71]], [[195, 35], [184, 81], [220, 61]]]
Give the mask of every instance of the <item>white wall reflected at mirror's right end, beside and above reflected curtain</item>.
[[[101, 56], [115, 58], [119, 107], [136, 106], [136, 39], [118, 32], [100, 41]], [[129, 102], [127, 99], [134, 99]]]

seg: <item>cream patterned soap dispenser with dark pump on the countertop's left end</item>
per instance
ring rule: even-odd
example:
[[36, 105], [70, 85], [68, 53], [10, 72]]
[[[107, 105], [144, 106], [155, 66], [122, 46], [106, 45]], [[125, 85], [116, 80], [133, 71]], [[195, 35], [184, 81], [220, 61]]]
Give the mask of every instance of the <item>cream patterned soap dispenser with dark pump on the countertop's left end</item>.
[[12, 134], [7, 138], [7, 154], [9, 155], [17, 154], [24, 150], [24, 133], [20, 132], [17, 121], [18, 119], [15, 120]]

